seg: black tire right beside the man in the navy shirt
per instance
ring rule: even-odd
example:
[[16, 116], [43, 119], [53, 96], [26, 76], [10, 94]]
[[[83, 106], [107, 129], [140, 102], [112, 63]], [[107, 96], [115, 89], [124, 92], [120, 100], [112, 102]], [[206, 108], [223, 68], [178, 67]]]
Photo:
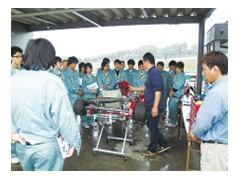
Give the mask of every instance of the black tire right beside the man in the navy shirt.
[[136, 103], [133, 109], [133, 120], [141, 123], [146, 121], [146, 108], [143, 103]]

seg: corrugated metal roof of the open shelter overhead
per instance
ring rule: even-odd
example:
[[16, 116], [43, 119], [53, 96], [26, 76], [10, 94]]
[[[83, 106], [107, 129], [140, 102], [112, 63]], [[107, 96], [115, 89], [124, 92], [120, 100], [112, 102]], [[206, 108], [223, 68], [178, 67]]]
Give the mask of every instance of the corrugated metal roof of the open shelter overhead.
[[212, 8], [12, 8], [29, 31], [141, 24], [199, 23]]

